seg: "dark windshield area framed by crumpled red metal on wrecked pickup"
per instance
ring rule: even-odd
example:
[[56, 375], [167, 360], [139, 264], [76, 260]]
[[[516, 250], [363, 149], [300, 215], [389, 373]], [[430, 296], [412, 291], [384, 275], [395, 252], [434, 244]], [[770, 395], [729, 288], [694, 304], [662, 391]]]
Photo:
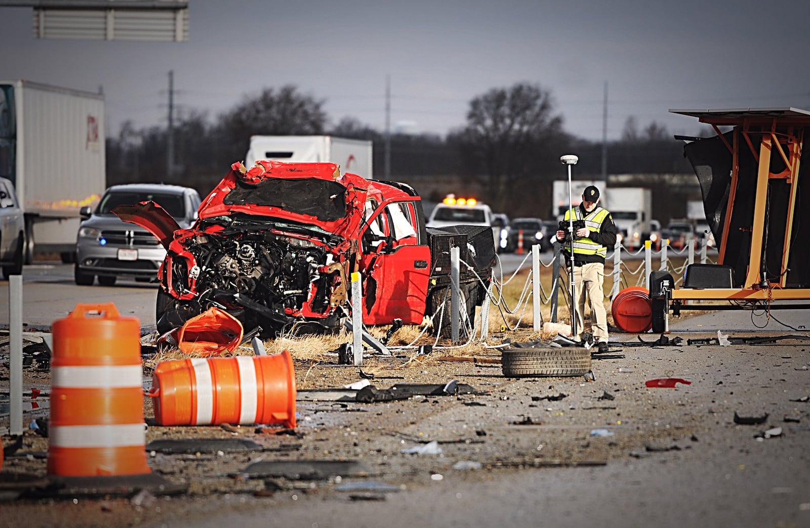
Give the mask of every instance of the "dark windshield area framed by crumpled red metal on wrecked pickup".
[[257, 185], [237, 182], [223, 203], [276, 207], [321, 221], [336, 221], [346, 216], [346, 187], [315, 178], [267, 178]]

